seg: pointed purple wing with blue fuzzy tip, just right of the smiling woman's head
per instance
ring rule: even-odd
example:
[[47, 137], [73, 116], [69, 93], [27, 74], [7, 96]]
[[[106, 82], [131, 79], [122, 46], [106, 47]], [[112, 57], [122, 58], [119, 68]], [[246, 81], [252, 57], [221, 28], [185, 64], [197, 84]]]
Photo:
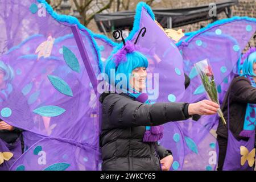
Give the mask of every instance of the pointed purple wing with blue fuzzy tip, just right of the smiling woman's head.
[[[135, 42], [139, 29], [145, 27], [147, 32], [138, 39], [137, 45], [148, 59], [148, 75], [152, 75], [152, 85], [147, 85], [150, 100], [157, 102], [175, 102], [183, 97], [184, 73], [182, 56], [175, 43], [155, 22], [154, 14], [146, 3], [137, 5], [133, 30], [128, 40]], [[150, 78], [150, 77], [148, 77]]]

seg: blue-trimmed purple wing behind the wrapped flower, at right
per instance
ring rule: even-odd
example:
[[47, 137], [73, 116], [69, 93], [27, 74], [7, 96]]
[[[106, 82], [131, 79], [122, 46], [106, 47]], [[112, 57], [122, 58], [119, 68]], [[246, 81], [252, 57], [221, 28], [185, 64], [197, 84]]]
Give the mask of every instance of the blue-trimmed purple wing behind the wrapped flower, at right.
[[[203, 59], [209, 59], [222, 104], [229, 84], [238, 72], [237, 65], [240, 64], [241, 52], [255, 30], [255, 19], [234, 17], [220, 20], [199, 31], [189, 33], [187, 38], [177, 43], [184, 59], [184, 72], [191, 78], [191, 84], [185, 91], [182, 100], [197, 102], [207, 99], [193, 64]], [[211, 170], [216, 168], [216, 162], [214, 163], [213, 159], [217, 157], [218, 144], [210, 133], [214, 134], [214, 130], [216, 130], [217, 114], [201, 117], [197, 123], [191, 125], [191, 129], [185, 130], [188, 126], [185, 125], [185, 122], [181, 123], [183, 125], [181, 130], [190, 138], [185, 141], [187, 151], [183, 169]], [[195, 163], [195, 160], [200, 160], [200, 163]], [[212, 164], [209, 164], [211, 160]]]

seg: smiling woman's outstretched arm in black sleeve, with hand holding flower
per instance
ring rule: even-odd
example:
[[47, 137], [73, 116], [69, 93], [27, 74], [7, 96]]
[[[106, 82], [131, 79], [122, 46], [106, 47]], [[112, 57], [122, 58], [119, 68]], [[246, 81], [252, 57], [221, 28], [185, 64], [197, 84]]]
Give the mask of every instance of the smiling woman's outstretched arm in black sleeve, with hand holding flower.
[[108, 115], [113, 127], [158, 126], [188, 119], [193, 114], [216, 113], [217, 109], [209, 103], [213, 102], [204, 100], [195, 104], [162, 102], [147, 105], [119, 94], [109, 94], [102, 102], [102, 111]]

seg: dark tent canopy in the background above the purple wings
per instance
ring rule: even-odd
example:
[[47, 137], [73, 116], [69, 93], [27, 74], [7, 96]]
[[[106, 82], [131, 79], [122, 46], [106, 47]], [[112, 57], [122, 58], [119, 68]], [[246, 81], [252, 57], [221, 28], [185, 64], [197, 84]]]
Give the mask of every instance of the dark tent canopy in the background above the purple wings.
[[[232, 16], [230, 6], [236, 5], [238, 0], [215, 3], [217, 15], [225, 12], [228, 18]], [[164, 28], [175, 28], [203, 20], [217, 20], [217, 16], [209, 16], [209, 5], [188, 7], [184, 9], [153, 9], [155, 19]], [[117, 28], [133, 28], [135, 11], [119, 11], [117, 13], [96, 14], [94, 19], [101, 32], [110, 32]]]

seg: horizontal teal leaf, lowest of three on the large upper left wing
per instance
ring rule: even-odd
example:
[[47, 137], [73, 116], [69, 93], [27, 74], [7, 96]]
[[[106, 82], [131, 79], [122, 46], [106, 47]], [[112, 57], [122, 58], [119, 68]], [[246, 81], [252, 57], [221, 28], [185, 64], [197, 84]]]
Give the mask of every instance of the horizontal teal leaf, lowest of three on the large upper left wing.
[[45, 117], [55, 117], [61, 115], [66, 110], [58, 107], [58, 106], [42, 106], [38, 107], [37, 109], [33, 110], [34, 113], [45, 116]]

